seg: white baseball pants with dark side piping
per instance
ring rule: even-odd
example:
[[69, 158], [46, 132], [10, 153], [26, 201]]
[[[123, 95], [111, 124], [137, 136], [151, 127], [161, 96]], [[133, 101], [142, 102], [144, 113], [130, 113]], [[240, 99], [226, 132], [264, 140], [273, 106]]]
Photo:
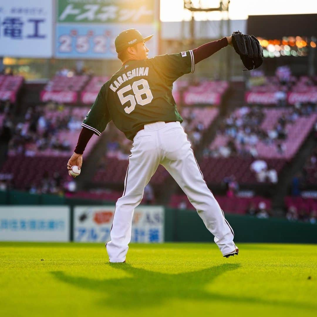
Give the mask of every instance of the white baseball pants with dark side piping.
[[179, 122], [159, 121], [145, 125], [133, 139], [123, 196], [117, 200], [111, 241], [106, 243], [109, 261], [125, 261], [134, 208], [141, 202], [144, 187], [159, 164], [171, 174], [197, 209], [222, 254], [232, 252], [235, 249], [233, 230], [204, 181], [187, 134]]

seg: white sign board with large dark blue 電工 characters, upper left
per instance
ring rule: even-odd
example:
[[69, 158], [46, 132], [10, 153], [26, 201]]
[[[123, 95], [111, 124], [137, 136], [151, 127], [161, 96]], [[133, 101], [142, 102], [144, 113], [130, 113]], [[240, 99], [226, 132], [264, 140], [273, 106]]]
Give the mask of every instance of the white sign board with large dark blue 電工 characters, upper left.
[[53, 55], [53, 0], [0, 2], [0, 56]]

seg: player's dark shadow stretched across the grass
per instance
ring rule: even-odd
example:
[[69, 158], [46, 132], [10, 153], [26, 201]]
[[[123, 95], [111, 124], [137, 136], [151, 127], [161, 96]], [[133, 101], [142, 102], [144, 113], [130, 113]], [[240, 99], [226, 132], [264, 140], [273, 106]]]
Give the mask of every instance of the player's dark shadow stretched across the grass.
[[[134, 268], [126, 263], [109, 263], [113, 268], [124, 270], [130, 277], [96, 280], [87, 277], [73, 277], [64, 272], [51, 272], [56, 279], [65, 283], [99, 291], [107, 297], [100, 302], [102, 305], [129, 309], [131, 307], [148, 307], [160, 305], [170, 299], [224, 301], [228, 303], [259, 303], [266, 305], [288, 306], [302, 308], [303, 303], [290, 301], [266, 301], [257, 297], [239, 297], [209, 292], [205, 289], [207, 283], [212, 282], [223, 273], [236, 270], [240, 264], [222, 264], [199, 271], [179, 274], [168, 274]], [[233, 280], [232, 283], [235, 283]], [[223, 285], [223, 289], [230, 289]], [[307, 304], [305, 303], [305, 307]], [[316, 306], [312, 306], [314, 308]]]

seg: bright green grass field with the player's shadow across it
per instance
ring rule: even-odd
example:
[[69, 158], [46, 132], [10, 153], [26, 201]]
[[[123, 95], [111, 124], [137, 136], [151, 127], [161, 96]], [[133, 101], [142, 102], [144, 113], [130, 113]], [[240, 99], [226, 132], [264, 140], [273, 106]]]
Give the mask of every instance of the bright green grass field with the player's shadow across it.
[[1, 315], [316, 315], [316, 245], [238, 246], [131, 244], [110, 264], [102, 243], [0, 243]]

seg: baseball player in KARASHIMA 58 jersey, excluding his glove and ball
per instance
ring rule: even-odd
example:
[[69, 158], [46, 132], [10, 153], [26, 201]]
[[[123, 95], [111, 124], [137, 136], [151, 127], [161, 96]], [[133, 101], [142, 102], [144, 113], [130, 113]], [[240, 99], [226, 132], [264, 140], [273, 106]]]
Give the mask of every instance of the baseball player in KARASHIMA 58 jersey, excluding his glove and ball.
[[232, 45], [232, 37], [223, 37], [186, 52], [147, 58], [146, 41], [151, 37], [128, 29], [115, 39], [122, 67], [103, 84], [88, 111], [78, 144], [68, 161], [68, 170], [73, 165], [81, 167], [82, 153], [91, 136], [99, 136], [113, 120], [115, 126], [133, 140], [133, 148], [128, 158], [123, 195], [116, 202], [111, 241], [106, 243], [109, 261], [125, 262], [134, 209], [160, 164], [197, 209], [223, 256], [234, 256], [239, 249], [233, 242], [233, 230], [204, 181], [172, 96], [175, 80], [193, 73], [199, 61]]

